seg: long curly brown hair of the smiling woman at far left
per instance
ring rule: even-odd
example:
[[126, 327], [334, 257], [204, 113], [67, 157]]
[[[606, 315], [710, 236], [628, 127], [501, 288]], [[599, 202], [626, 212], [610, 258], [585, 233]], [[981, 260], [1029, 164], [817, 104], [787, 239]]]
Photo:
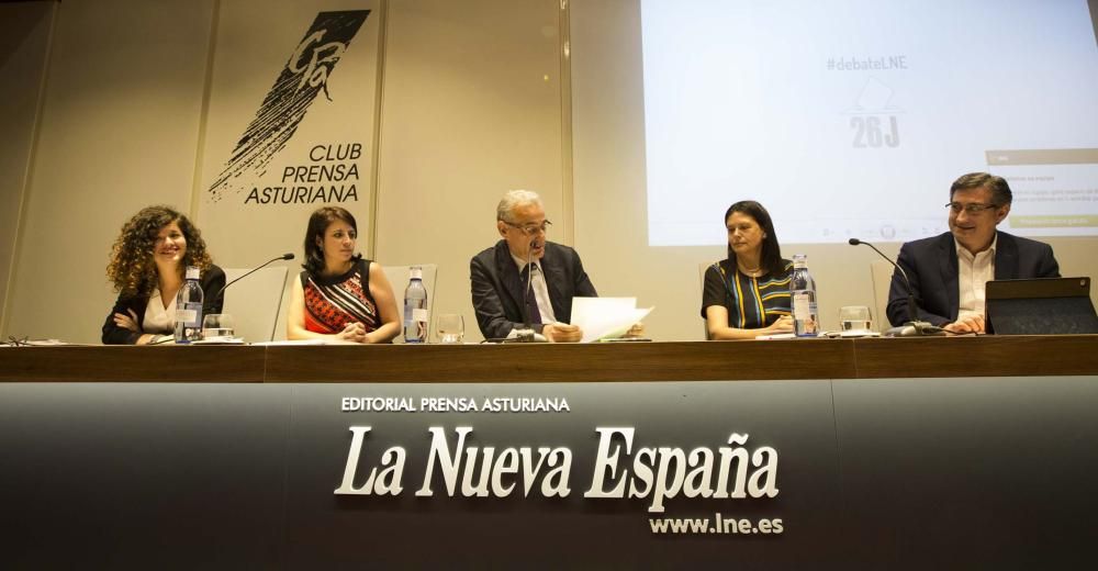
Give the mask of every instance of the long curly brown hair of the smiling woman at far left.
[[114, 283], [115, 291], [125, 296], [143, 296], [153, 292], [157, 283], [153, 255], [156, 236], [160, 228], [172, 222], [179, 225], [179, 231], [187, 239], [187, 254], [179, 265], [179, 277], [183, 277], [187, 266], [195, 266], [205, 271], [213, 265], [202, 233], [187, 216], [169, 206], [146, 206], [122, 225], [122, 233], [111, 248], [107, 279]]

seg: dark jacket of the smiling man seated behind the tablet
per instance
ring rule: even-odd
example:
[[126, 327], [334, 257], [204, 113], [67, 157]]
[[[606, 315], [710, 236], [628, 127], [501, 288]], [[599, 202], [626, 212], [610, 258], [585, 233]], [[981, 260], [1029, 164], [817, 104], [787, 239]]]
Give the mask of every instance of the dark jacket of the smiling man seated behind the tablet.
[[[957, 250], [953, 234], [946, 232], [931, 238], [909, 242], [899, 248], [896, 260], [915, 290], [919, 318], [933, 325], [945, 325], [957, 318], [960, 288], [957, 286]], [[995, 245], [995, 279], [1060, 277], [1060, 265], [1047, 244], [998, 233]], [[908, 321], [907, 288], [898, 271], [893, 271], [888, 290], [888, 321], [899, 325]]]

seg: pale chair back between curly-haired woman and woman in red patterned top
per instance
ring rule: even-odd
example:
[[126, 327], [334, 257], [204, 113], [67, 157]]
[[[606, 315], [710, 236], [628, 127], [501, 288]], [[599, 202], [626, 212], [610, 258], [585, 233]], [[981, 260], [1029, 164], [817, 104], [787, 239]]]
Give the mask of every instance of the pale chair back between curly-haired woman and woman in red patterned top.
[[[250, 270], [251, 268], [226, 268], [225, 283]], [[274, 338], [285, 273], [284, 267], [262, 268], [225, 290], [225, 305], [222, 311], [233, 316], [238, 337], [244, 337], [248, 343], [269, 342]]]

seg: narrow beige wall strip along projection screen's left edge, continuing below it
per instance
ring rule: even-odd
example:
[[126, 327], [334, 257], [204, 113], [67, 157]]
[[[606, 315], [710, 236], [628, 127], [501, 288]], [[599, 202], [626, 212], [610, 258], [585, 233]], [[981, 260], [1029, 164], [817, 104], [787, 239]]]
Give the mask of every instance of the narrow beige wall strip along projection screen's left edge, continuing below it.
[[720, 248], [648, 247], [639, 30], [629, 2], [572, 3], [575, 246], [600, 295], [656, 306], [649, 336], [699, 339], [697, 266]]

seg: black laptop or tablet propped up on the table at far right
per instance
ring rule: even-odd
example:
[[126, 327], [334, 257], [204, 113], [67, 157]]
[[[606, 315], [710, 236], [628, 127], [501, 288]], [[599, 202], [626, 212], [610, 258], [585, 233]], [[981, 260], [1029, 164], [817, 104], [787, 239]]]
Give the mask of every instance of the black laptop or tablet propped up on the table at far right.
[[1098, 333], [1098, 314], [1090, 301], [1090, 278], [989, 281], [984, 303], [987, 333]]

